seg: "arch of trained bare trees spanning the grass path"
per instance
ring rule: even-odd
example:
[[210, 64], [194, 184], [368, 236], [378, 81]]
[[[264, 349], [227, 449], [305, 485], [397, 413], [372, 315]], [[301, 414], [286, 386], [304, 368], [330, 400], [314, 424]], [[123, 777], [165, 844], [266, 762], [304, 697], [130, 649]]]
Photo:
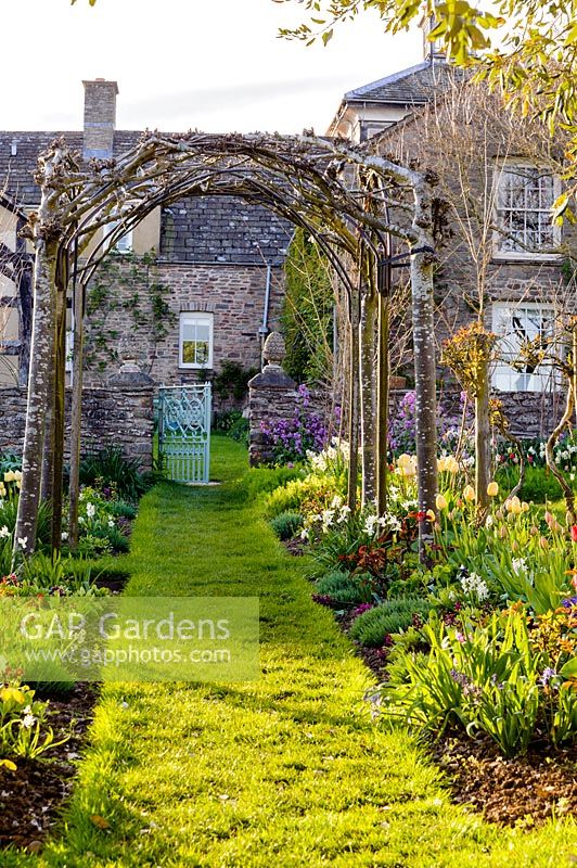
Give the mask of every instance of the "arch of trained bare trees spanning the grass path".
[[[187, 196], [238, 196], [265, 205], [309, 232], [334, 267], [348, 310], [349, 400], [345, 409], [351, 447], [351, 508], [357, 490], [359, 420], [362, 420], [363, 436], [363, 497], [373, 498], [379, 492], [380, 508], [384, 508], [386, 445], [383, 431], [387, 406], [383, 396], [386, 396], [388, 367], [383, 335], [386, 336], [387, 331], [387, 286], [379, 275], [389, 250], [390, 235], [407, 244], [413, 297], [419, 503], [423, 516], [434, 507], [437, 474], [432, 178], [369, 155], [348, 143], [313, 136], [146, 132], [133, 149], [118, 158], [91, 159], [88, 164], [82, 164], [63, 139], [55, 140], [39, 158], [36, 180], [41, 189], [40, 206], [30, 215], [26, 228], [35, 247], [35, 305], [15, 549], [27, 553], [35, 546], [47, 410], [50, 409], [49, 434], [54, 454], [52, 544], [54, 548], [60, 545], [65, 299], [69, 284], [75, 288], [76, 330], [70, 444], [70, 532], [74, 538], [84, 288], [123, 234], [159, 205], [169, 205]], [[410, 206], [399, 194], [399, 190], [408, 188], [412, 191]], [[392, 222], [389, 213], [400, 213], [402, 218]], [[376, 319], [379, 334], [374, 327]], [[380, 361], [375, 365], [377, 356]], [[375, 400], [374, 395], [381, 400]], [[420, 526], [421, 537], [425, 538], [426, 518], [422, 518]]]

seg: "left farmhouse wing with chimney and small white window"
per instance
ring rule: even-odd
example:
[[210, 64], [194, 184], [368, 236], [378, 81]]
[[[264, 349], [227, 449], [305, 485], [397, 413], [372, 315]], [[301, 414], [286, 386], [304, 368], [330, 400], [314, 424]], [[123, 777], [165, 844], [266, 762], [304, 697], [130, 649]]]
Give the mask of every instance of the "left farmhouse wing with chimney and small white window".
[[[116, 82], [98, 79], [85, 81], [84, 87], [81, 132], [0, 132], [0, 178], [5, 179], [10, 196], [7, 204], [0, 201], [0, 228], [12, 252], [17, 244], [12, 203], [17, 203], [20, 214], [38, 205], [36, 161], [56, 136], [64, 136], [85, 158], [111, 157], [138, 141], [139, 131], [115, 128]], [[229, 197], [183, 200], [157, 208], [116, 245], [118, 256], [106, 297], [99, 286], [91, 306], [89, 293], [88, 309], [94, 309], [88, 343], [94, 363], [87, 371], [87, 385], [105, 382], [121, 363], [118, 356], [127, 344], [130, 354], [137, 345], [143, 370], [167, 385], [205, 379], [226, 360], [244, 369], [259, 368], [262, 341], [277, 326], [282, 265], [291, 237], [291, 226], [271, 212]], [[136, 277], [130, 257], [123, 263], [123, 255], [130, 252], [138, 257], [151, 254], [150, 267], [139, 269]], [[156, 288], [152, 297], [161, 309], [158, 304], [151, 308], [151, 281]], [[12, 284], [0, 284], [0, 306], [11, 311], [5, 324], [0, 321], [5, 326], [0, 334], [0, 383], [4, 384], [14, 383], [24, 346], [17, 309], [7, 306], [14, 294]], [[154, 322], [158, 316], [164, 319], [161, 330]]]

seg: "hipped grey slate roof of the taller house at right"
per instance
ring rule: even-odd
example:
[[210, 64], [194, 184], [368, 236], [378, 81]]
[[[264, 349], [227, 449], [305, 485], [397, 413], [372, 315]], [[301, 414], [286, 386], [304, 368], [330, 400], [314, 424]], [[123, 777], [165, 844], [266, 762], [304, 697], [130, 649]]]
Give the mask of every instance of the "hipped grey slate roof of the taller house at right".
[[423, 61], [399, 73], [371, 81], [345, 93], [343, 102], [398, 103], [423, 105], [439, 88], [444, 88], [453, 67], [447, 63]]

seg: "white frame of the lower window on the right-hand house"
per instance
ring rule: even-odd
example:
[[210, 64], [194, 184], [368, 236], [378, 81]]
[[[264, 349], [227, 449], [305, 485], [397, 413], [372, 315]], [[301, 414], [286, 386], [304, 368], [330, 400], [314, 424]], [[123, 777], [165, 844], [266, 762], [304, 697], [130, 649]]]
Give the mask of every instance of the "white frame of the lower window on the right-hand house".
[[[542, 304], [540, 302], [493, 302], [492, 303], [492, 331], [498, 336], [497, 352], [499, 353], [499, 345], [507, 339], [507, 333], [503, 334], [501, 323], [503, 315], [517, 314], [523, 315], [523, 311], [535, 311], [551, 315], [554, 320], [555, 306], [551, 304]], [[540, 365], [535, 372], [523, 372], [515, 370], [507, 361], [497, 361], [491, 371], [491, 385], [500, 392], [530, 392], [543, 393], [554, 392], [560, 387], [560, 374], [550, 365]]]

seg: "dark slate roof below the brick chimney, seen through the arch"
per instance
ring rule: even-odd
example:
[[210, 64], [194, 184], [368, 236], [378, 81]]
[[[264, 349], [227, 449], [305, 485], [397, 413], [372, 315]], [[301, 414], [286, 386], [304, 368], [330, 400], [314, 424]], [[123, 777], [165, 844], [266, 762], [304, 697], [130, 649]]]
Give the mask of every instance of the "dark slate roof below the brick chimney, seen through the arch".
[[[79, 131], [0, 131], [0, 189], [20, 205], [34, 207], [40, 191], [34, 181], [38, 154], [59, 136], [82, 150]], [[116, 130], [114, 153], [133, 146], [139, 130]], [[12, 155], [13, 143], [16, 155]], [[161, 257], [170, 261], [282, 265], [293, 233], [291, 224], [269, 209], [227, 197], [194, 197], [163, 208]]]

